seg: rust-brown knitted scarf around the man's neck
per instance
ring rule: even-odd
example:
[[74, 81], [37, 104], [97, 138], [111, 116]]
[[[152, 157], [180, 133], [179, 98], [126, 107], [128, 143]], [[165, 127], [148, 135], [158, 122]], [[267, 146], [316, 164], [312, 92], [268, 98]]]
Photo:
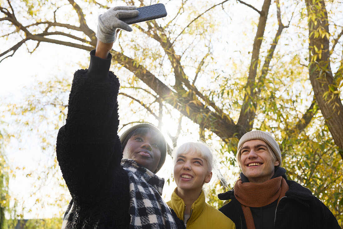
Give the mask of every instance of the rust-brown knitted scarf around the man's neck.
[[280, 200], [288, 191], [288, 184], [282, 176], [262, 184], [245, 182], [238, 179], [234, 186], [235, 197], [239, 201], [248, 229], [255, 229], [250, 207], [263, 207]]

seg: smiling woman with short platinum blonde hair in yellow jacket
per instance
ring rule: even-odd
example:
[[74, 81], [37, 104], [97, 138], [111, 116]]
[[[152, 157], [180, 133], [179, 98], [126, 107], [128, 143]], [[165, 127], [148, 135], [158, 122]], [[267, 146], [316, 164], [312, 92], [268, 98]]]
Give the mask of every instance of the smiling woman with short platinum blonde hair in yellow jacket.
[[177, 187], [167, 202], [187, 229], [229, 228], [235, 224], [205, 202], [202, 189], [212, 178], [212, 150], [203, 142], [187, 142], [173, 152], [174, 179]]

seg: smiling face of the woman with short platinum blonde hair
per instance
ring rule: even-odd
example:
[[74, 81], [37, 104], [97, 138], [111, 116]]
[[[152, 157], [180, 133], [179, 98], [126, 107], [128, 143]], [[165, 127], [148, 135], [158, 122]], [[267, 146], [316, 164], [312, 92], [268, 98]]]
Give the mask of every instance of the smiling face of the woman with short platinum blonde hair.
[[200, 194], [204, 183], [209, 183], [212, 172], [209, 172], [207, 161], [196, 152], [178, 154], [174, 165], [174, 179], [179, 191], [194, 191]]

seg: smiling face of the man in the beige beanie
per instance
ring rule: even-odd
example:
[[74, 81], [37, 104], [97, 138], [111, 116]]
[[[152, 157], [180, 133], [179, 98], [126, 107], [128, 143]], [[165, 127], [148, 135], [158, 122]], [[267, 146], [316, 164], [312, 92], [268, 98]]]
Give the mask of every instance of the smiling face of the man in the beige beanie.
[[274, 175], [274, 166], [279, 165], [268, 150], [268, 145], [261, 140], [250, 140], [240, 150], [240, 168], [252, 183], [263, 183]]

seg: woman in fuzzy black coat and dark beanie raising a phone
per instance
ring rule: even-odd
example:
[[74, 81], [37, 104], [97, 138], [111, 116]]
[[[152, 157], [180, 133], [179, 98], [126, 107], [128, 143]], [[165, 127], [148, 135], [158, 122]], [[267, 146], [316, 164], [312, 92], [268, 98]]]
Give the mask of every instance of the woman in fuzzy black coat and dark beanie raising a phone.
[[72, 196], [62, 228], [184, 228], [161, 197], [164, 179], [155, 175], [166, 157], [161, 132], [143, 123], [117, 134], [119, 81], [109, 71], [109, 51], [119, 28], [132, 30], [119, 18], [137, 15], [135, 7], [100, 15], [90, 67], [74, 74], [56, 146]]

